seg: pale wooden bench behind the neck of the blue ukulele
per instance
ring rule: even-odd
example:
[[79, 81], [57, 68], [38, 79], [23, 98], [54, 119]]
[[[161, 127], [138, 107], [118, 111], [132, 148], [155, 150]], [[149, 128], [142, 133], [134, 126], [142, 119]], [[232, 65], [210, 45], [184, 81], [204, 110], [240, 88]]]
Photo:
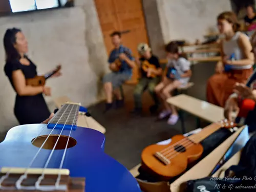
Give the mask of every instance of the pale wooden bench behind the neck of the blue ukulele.
[[[58, 109], [61, 107], [62, 104], [64, 104], [67, 101], [72, 102], [71, 99], [67, 96], [62, 96], [54, 99], [54, 103]], [[78, 116], [77, 126], [87, 127], [93, 130], [97, 130], [103, 134], [106, 132], [106, 129], [101, 124], [99, 124], [94, 118], [87, 117], [84, 115]]]

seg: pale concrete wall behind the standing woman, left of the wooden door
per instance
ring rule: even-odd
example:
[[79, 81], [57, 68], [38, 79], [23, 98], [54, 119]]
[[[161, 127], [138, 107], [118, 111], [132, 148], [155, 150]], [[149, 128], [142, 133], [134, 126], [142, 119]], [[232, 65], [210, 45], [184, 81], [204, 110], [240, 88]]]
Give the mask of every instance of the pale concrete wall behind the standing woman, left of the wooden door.
[[[62, 77], [50, 79], [52, 99], [67, 95], [90, 105], [102, 98], [100, 77], [107, 70], [107, 54], [93, 0], [76, 0], [74, 8], [0, 17], [0, 37], [7, 28], [21, 28], [29, 42], [29, 57], [39, 73], [62, 64]], [[5, 55], [0, 44], [0, 132], [17, 125], [13, 114], [15, 93], [3, 72]]]

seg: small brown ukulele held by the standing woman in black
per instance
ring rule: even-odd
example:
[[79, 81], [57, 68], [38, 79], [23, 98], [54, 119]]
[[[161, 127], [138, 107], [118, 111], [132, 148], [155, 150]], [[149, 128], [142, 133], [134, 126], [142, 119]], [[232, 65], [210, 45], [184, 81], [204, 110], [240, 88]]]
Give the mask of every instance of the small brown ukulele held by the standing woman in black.
[[55, 73], [57, 73], [60, 69], [61, 69], [61, 66], [57, 66], [57, 68], [51, 73], [26, 79], [26, 84], [27, 86], [44, 86], [46, 84], [46, 80], [50, 78], [52, 75], [54, 75]]

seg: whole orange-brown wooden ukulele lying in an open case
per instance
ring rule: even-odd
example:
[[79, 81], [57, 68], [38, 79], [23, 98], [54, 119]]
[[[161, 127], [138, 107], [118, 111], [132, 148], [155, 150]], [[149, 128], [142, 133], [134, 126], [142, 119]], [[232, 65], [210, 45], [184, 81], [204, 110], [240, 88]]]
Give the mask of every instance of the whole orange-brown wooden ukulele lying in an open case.
[[176, 135], [167, 145], [153, 144], [147, 146], [141, 154], [142, 167], [161, 181], [169, 181], [183, 173], [188, 163], [200, 158], [203, 153], [203, 146], [200, 144], [202, 140], [221, 127], [232, 130], [235, 126], [236, 123], [223, 120], [220, 123], [212, 123], [206, 126], [195, 135], [188, 137]]

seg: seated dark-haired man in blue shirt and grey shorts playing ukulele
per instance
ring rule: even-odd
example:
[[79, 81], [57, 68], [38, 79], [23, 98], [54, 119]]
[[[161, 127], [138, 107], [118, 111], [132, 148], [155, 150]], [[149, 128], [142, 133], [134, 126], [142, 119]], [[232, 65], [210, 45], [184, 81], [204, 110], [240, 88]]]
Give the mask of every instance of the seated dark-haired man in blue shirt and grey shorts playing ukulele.
[[113, 92], [117, 98], [117, 107], [123, 105], [123, 98], [119, 88], [124, 81], [129, 80], [132, 77], [132, 69], [135, 67], [135, 59], [132, 56], [131, 50], [121, 45], [121, 33], [115, 31], [110, 36], [112, 37], [112, 44], [115, 49], [109, 56], [109, 68], [112, 72], [105, 74], [103, 77], [104, 91], [106, 94], [106, 106], [104, 112], [109, 111], [113, 106]]

